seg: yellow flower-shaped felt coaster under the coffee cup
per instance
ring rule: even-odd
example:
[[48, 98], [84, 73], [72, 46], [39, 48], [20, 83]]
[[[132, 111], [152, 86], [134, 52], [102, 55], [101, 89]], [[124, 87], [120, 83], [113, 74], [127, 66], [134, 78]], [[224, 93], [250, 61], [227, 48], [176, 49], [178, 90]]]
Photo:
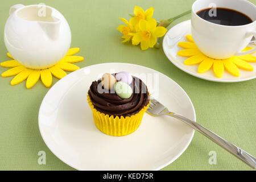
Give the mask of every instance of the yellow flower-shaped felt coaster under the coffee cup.
[[[177, 52], [177, 55], [188, 57], [184, 61], [185, 65], [195, 65], [200, 64], [197, 69], [198, 73], [204, 73], [208, 71], [210, 68], [213, 68], [214, 75], [218, 78], [221, 78], [224, 69], [228, 71], [233, 76], [240, 76], [240, 71], [238, 68], [253, 71], [253, 66], [247, 62], [256, 62], [256, 56], [253, 55], [243, 55], [243, 56], [233, 56], [229, 59], [213, 59], [208, 56], [205, 56], [199, 48], [197, 48], [195, 42], [191, 35], [186, 36], [189, 42], [179, 42], [178, 45], [184, 48], [181, 51]], [[252, 47], [246, 47], [243, 51], [248, 51], [252, 49]]]

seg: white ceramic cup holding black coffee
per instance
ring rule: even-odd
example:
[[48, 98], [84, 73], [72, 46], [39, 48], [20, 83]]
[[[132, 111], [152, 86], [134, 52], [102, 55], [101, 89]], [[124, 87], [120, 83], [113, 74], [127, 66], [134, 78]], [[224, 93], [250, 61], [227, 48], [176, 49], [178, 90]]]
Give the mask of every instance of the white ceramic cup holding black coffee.
[[[240, 11], [253, 22], [242, 26], [225, 26], [204, 20], [196, 13], [209, 7], [224, 7]], [[197, 0], [192, 5], [191, 32], [196, 46], [205, 55], [214, 59], [228, 59], [256, 51], [241, 52], [248, 46], [253, 35], [256, 38], [256, 6], [245, 0]]]

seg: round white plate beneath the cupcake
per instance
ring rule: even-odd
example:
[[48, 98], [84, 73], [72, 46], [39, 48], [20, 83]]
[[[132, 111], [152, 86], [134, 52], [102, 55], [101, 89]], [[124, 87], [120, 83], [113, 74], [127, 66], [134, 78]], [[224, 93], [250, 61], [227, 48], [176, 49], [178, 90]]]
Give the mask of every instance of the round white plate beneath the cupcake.
[[136, 73], [134, 76], [141, 77], [152, 95], [159, 95], [158, 100], [170, 110], [196, 121], [188, 95], [162, 73], [125, 63], [79, 69], [52, 86], [39, 110], [44, 142], [69, 166], [79, 170], [158, 170], [174, 162], [191, 142], [191, 127], [172, 117], [147, 113], [138, 130], [130, 135], [111, 137], [101, 133], [94, 125], [86, 95], [92, 81], [103, 73], [119, 71]]

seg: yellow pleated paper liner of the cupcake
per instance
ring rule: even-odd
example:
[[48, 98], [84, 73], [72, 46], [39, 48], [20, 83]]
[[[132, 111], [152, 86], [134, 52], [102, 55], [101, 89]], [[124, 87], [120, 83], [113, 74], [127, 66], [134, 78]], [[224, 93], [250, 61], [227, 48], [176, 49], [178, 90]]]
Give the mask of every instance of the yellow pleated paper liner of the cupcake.
[[88, 104], [90, 109], [92, 109], [94, 123], [97, 128], [107, 135], [114, 137], [121, 137], [129, 135], [138, 129], [141, 125], [143, 114], [146, 112], [148, 105], [144, 106], [139, 113], [131, 115], [130, 117], [115, 117], [113, 115], [108, 115], [101, 113], [96, 110], [90, 101], [90, 97], [87, 96]]

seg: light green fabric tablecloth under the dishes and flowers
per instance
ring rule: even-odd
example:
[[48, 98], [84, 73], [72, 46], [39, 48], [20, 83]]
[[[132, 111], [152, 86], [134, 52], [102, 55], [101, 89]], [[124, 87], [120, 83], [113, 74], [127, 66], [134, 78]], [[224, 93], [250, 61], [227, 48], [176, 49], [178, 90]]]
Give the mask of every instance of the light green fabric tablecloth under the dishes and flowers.
[[[116, 28], [129, 19], [134, 6], [144, 10], [153, 6], [156, 20], [168, 19], [191, 9], [193, 0], [130, 1], [2, 1], [0, 10], [0, 62], [10, 60], [3, 41], [3, 29], [9, 8], [22, 3], [45, 3], [59, 10], [72, 31], [71, 47], [80, 47], [76, 55], [85, 60], [79, 67], [123, 62], [143, 65], [162, 72], [176, 81], [191, 98], [197, 122], [256, 156], [256, 80], [219, 83], [201, 80], [176, 68], [160, 49], [141, 51], [139, 46], [121, 43]], [[254, 4], [256, 0], [251, 1]], [[170, 27], [190, 19], [190, 14], [175, 20]], [[168, 28], [170, 28], [168, 27]], [[7, 68], [0, 67], [0, 73]], [[11, 86], [12, 77], [0, 77], [0, 170], [73, 170], [61, 162], [44, 143], [38, 127], [38, 111], [48, 92], [41, 81], [32, 89], [26, 82]], [[53, 84], [58, 81], [53, 78]], [[38, 152], [46, 152], [46, 165], [38, 164]], [[217, 164], [210, 165], [210, 151], [216, 151]], [[196, 132], [187, 150], [162, 170], [253, 170], [220, 146]]]

